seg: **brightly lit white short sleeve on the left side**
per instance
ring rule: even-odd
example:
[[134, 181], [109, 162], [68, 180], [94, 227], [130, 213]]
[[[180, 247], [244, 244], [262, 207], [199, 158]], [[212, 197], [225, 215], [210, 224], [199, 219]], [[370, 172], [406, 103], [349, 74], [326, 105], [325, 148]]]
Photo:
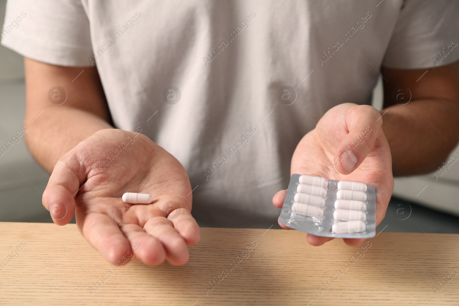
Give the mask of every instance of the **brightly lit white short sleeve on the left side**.
[[37, 61], [90, 66], [90, 24], [78, 0], [8, 0], [1, 44]]

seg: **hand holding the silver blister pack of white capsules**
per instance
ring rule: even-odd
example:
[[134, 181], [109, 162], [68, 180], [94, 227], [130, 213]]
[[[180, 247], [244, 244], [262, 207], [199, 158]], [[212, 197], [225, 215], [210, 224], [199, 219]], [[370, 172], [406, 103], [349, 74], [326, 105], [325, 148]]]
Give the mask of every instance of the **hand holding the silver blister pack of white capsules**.
[[[291, 160], [291, 174], [375, 185], [378, 225], [386, 214], [394, 186], [391, 152], [381, 123], [381, 114], [372, 106], [345, 103], [331, 108], [298, 143]], [[273, 204], [281, 207], [285, 194], [281, 190], [274, 195]], [[308, 234], [307, 240], [311, 245], [321, 245], [330, 238]], [[362, 242], [344, 240], [348, 245]]]

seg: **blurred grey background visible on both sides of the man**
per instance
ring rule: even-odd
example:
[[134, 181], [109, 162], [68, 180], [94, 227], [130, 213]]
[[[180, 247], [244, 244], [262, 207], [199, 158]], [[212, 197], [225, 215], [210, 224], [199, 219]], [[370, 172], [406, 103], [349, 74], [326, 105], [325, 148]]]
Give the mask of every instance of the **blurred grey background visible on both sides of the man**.
[[[6, 0], [0, 0], [1, 25], [5, 6]], [[0, 46], [0, 147], [21, 130], [24, 106], [22, 57]], [[381, 80], [374, 90], [373, 106], [382, 108]], [[459, 147], [452, 155], [459, 157]], [[459, 162], [445, 166], [443, 172], [439, 178], [433, 173], [396, 178], [386, 218], [377, 230], [458, 234]], [[34, 161], [23, 137], [20, 138], [19, 143], [0, 156], [0, 222], [52, 222], [41, 204], [48, 179], [49, 174]]]

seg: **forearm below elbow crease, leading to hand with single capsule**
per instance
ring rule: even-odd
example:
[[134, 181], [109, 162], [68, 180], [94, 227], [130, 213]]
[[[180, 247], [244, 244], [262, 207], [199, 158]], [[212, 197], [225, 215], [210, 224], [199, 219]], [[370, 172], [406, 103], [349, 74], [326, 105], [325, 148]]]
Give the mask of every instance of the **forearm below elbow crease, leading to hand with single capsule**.
[[35, 118], [38, 113], [26, 111], [24, 136], [30, 153], [47, 172], [52, 172], [56, 162], [79, 142], [101, 129], [112, 128], [100, 117], [73, 107], [49, 106]]

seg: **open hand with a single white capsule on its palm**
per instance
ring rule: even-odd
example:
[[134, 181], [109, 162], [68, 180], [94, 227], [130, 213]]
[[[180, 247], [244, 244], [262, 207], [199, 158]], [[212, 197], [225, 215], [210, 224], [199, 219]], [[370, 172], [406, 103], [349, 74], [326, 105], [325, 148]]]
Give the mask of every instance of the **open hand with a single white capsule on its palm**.
[[[147, 193], [153, 201], [126, 204], [125, 192]], [[135, 132], [102, 129], [68, 151], [54, 167], [43, 205], [59, 225], [75, 214], [80, 233], [112, 264], [134, 254], [149, 265], [165, 259], [183, 265], [187, 245], [200, 239], [184, 167]]]

